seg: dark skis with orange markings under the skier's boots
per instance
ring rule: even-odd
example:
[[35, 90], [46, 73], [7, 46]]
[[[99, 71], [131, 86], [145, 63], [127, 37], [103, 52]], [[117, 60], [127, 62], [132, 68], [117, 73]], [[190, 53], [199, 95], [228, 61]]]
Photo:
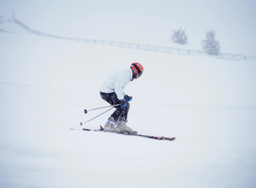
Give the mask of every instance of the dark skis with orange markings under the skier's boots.
[[[77, 130], [77, 129], [70, 128], [70, 130]], [[133, 136], [146, 137], [146, 138], [158, 139], [158, 140], [168, 140], [168, 141], [173, 141], [173, 140], [176, 139], [176, 137], [168, 138], [168, 137], [156, 137], [156, 136], [148, 136], [148, 135], [137, 134], [137, 133], [138, 133], [137, 131], [132, 131], [132, 132], [124, 132], [124, 131], [120, 131], [120, 132], [104, 131], [104, 128], [103, 128], [102, 126], [101, 126], [100, 129], [97, 129], [97, 130], [83, 128], [83, 131], [108, 132], [108, 133], [123, 134], [123, 135], [133, 135]]]

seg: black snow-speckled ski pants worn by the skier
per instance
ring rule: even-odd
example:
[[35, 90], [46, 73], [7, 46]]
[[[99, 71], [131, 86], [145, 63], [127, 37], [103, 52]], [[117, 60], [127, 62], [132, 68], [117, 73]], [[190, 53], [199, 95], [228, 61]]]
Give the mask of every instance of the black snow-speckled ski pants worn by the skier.
[[[107, 101], [111, 105], [120, 104], [120, 100], [117, 98], [116, 92], [113, 93], [103, 93], [99, 92], [101, 94], [101, 98], [105, 101]], [[125, 121], [127, 120], [128, 111], [130, 108], [130, 104], [127, 102], [127, 105], [125, 107], [122, 107], [120, 105], [115, 106], [116, 110], [113, 112], [111, 117], [114, 118], [114, 120], [117, 122]]]

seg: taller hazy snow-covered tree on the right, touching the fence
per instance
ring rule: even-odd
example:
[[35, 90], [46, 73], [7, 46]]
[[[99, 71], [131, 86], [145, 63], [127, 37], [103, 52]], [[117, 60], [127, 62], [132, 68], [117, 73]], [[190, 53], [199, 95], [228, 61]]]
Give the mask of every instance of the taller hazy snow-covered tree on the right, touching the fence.
[[203, 49], [211, 55], [219, 55], [219, 41], [215, 39], [215, 31], [210, 30], [206, 32], [206, 40], [202, 40], [201, 43], [204, 47]]

